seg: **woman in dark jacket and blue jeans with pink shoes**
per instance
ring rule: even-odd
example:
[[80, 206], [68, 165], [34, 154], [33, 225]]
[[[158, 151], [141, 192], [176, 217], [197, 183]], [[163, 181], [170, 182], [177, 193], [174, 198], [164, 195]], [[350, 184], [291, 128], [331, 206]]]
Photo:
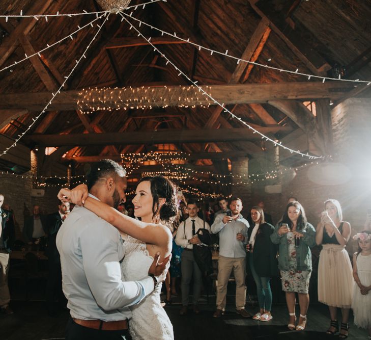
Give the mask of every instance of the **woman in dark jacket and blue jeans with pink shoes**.
[[273, 318], [271, 315], [272, 291], [269, 281], [278, 273], [277, 246], [270, 240], [274, 226], [265, 222], [264, 211], [260, 206], [253, 206], [250, 214], [252, 224], [248, 229], [249, 243], [246, 245], [246, 250], [249, 252], [249, 265], [256, 284], [260, 308], [252, 319], [269, 321]]

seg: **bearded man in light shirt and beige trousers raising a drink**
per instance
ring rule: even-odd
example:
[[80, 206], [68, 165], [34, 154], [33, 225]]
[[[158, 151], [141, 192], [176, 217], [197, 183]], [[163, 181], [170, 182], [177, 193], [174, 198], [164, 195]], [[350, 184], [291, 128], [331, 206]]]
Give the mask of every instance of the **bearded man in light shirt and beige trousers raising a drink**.
[[224, 314], [228, 279], [233, 274], [236, 280], [236, 311], [244, 318], [251, 315], [245, 310], [245, 258], [247, 243], [247, 229], [249, 223], [240, 214], [242, 201], [236, 197], [231, 200], [230, 214], [216, 216], [211, 231], [219, 233], [219, 260], [218, 260], [218, 286], [216, 295], [216, 311], [214, 318]]

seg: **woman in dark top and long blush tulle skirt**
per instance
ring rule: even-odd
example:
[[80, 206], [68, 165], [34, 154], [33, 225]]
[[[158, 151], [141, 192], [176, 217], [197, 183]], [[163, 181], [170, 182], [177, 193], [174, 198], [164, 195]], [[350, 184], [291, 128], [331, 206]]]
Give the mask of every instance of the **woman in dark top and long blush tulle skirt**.
[[341, 308], [340, 338], [348, 337], [348, 319], [352, 304], [354, 280], [349, 254], [345, 250], [351, 236], [351, 226], [343, 221], [343, 212], [336, 199], [325, 202], [325, 211], [317, 225], [316, 243], [322, 245], [318, 266], [318, 301], [330, 310], [330, 328], [327, 334], [339, 331], [336, 319]]

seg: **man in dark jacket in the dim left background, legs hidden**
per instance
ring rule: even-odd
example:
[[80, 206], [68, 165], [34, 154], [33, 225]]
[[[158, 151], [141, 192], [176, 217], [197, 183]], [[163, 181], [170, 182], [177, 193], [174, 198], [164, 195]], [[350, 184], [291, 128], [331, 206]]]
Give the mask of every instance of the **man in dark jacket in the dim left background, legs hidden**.
[[23, 236], [29, 245], [38, 244], [43, 250], [47, 236], [46, 216], [40, 214], [40, 206], [34, 205], [34, 213], [24, 219]]

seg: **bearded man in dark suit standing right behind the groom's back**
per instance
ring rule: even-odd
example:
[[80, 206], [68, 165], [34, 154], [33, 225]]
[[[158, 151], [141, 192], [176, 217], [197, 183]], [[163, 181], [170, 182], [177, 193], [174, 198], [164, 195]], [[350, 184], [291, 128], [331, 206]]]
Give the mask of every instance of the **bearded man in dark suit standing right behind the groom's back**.
[[46, 302], [50, 316], [56, 316], [58, 305], [55, 300], [62, 304], [67, 304], [67, 300], [62, 291], [62, 270], [61, 258], [56, 248], [56, 234], [67, 215], [70, 213], [70, 203], [60, 202], [58, 212], [46, 216], [47, 225], [47, 245], [45, 255], [48, 256], [48, 282], [46, 284]]

